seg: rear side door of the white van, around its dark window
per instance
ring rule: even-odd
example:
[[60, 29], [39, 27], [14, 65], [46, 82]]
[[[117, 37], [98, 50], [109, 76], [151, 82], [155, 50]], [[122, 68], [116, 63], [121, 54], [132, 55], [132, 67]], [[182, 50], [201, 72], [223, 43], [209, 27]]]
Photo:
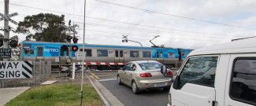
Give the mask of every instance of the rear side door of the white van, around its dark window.
[[256, 105], [256, 53], [232, 54], [229, 64], [224, 105]]

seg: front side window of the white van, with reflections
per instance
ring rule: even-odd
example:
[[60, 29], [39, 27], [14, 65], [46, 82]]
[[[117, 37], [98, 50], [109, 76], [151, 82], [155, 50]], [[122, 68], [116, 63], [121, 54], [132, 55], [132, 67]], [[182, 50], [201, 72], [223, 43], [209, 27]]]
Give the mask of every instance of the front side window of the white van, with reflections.
[[189, 58], [178, 77], [175, 89], [181, 89], [186, 83], [214, 87], [217, 60], [218, 57]]

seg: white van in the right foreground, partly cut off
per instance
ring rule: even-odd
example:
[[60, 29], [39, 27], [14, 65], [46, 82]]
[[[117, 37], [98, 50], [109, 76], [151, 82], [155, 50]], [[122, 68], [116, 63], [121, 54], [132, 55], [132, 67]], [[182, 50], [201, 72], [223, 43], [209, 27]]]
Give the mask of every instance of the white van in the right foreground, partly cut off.
[[192, 51], [177, 72], [168, 105], [256, 105], [256, 38]]

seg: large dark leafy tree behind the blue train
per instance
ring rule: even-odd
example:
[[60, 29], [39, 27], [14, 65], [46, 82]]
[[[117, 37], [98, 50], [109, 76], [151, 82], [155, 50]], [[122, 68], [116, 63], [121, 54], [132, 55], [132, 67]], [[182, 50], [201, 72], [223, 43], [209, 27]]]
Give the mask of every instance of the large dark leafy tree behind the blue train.
[[65, 20], [64, 15], [58, 16], [52, 13], [39, 13], [26, 16], [20, 21], [17, 33], [34, 38], [38, 42], [65, 42]]

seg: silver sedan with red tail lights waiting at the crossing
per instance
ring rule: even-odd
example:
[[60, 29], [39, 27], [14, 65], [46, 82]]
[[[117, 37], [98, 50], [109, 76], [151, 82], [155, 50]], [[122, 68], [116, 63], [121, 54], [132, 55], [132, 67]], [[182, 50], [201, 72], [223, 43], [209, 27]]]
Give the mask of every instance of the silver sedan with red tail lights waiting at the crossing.
[[139, 60], [128, 62], [117, 73], [117, 83], [132, 87], [133, 93], [152, 88], [168, 88], [171, 86], [172, 71], [161, 74], [163, 64], [155, 60]]

